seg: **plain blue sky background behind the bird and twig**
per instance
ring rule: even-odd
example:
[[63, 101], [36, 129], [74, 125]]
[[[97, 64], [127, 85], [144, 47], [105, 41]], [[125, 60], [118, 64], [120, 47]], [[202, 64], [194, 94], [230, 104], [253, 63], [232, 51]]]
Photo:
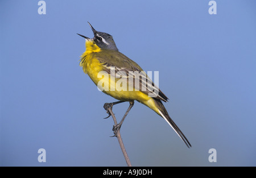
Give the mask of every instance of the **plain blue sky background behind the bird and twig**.
[[[135, 102], [121, 128], [134, 166], [255, 166], [256, 1], [0, 2], [0, 165], [126, 166], [103, 119], [105, 102], [82, 72], [85, 40], [113, 35], [159, 87], [188, 149], [163, 118]], [[118, 119], [128, 103], [114, 107]], [[39, 148], [46, 163], [38, 162]], [[210, 148], [217, 163], [208, 161]]]

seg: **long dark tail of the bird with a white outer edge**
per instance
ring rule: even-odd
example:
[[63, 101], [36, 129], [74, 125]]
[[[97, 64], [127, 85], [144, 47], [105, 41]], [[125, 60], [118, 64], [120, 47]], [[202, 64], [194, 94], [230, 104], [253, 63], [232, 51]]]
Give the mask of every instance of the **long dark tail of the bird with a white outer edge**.
[[175, 132], [180, 136], [180, 138], [187, 145], [187, 147], [190, 148], [191, 144], [188, 142], [188, 139], [181, 132], [179, 127], [177, 127], [177, 125], [174, 123], [174, 121], [172, 121], [170, 115], [167, 113], [167, 110], [164, 107], [164, 105], [162, 104], [162, 102], [158, 99], [155, 99], [155, 98], [154, 98], [154, 101], [155, 101], [156, 107], [158, 107], [158, 111], [159, 111], [160, 115], [168, 122], [168, 124], [172, 127], [172, 129], [175, 130]]

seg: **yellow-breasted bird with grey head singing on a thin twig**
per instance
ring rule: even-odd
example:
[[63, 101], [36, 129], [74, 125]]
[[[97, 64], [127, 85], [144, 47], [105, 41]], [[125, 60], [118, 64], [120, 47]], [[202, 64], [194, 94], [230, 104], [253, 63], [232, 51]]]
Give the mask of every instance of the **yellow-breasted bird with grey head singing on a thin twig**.
[[[126, 115], [129, 113], [131, 107], [133, 107], [134, 100], [136, 100], [150, 107], [150, 109], [154, 110], [158, 115], [163, 117], [169, 123], [172, 129], [174, 129], [175, 132], [180, 136], [183, 142], [188, 147], [191, 147], [188, 139], [181, 132], [179, 127], [177, 127], [174, 121], [172, 121], [171, 117], [166, 111], [166, 108], [162, 104], [162, 101], [167, 102], [168, 100], [163, 92], [161, 92], [161, 90], [154, 85], [151, 79], [137, 63], [118, 51], [112, 35], [105, 32], [96, 31], [90, 23], [89, 25], [94, 34], [92, 39], [78, 34], [85, 38], [86, 47], [85, 52], [82, 53], [81, 56], [80, 66], [84, 70], [84, 73], [89, 75], [94, 84], [96, 84], [98, 87], [100, 86], [102, 92], [119, 100], [117, 102], [105, 104], [104, 108], [106, 110], [108, 110], [108, 107], [112, 107], [115, 104], [125, 101], [130, 102], [130, 106], [123, 116], [121, 122], [113, 127], [115, 134], [114, 136], [116, 136], [117, 131], [120, 129]], [[102, 72], [107, 74], [107, 76], [102, 76]], [[139, 75], [136, 72], [138, 72]], [[133, 75], [131, 75], [131, 73]], [[121, 80], [121, 76], [125, 76], [125, 74], [126, 77], [123, 77], [125, 78], [123, 81], [127, 82], [121, 82], [122, 86], [119, 82], [118, 86], [121, 86], [122, 89], [125, 87], [127, 90], [120, 90], [117, 88], [117, 82]], [[148, 85], [148, 81], [151, 82], [151, 85]], [[103, 85], [98, 85], [99, 82], [101, 82], [101, 84], [103, 83]]]

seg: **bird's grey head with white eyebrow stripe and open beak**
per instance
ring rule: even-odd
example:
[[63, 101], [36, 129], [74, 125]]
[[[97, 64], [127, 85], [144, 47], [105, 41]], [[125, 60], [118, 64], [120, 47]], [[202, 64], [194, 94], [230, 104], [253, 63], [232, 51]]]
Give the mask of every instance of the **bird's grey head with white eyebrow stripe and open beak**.
[[112, 35], [109, 35], [105, 32], [96, 31], [90, 23], [89, 23], [89, 26], [90, 28], [92, 28], [92, 31], [94, 34], [94, 37], [92, 39], [84, 35], [80, 35], [80, 34], [78, 35], [84, 37], [87, 40], [93, 40], [97, 44], [97, 46], [100, 47], [101, 49], [111, 49], [111, 50], [118, 51]]

